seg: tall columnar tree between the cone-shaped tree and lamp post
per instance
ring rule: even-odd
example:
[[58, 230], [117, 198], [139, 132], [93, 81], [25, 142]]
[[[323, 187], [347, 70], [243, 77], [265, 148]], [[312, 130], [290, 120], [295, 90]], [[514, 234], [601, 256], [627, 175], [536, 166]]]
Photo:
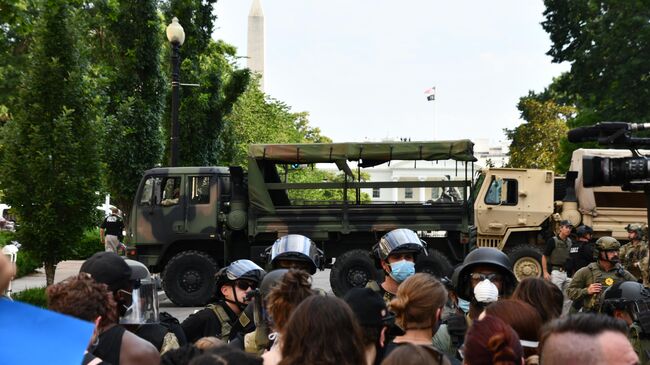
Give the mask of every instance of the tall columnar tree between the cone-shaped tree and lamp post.
[[117, 206], [130, 208], [142, 173], [161, 161], [160, 123], [165, 79], [161, 69], [162, 23], [156, 0], [120, 0], [105, 38], [110, 66], [103, 161], [106, 185]]

